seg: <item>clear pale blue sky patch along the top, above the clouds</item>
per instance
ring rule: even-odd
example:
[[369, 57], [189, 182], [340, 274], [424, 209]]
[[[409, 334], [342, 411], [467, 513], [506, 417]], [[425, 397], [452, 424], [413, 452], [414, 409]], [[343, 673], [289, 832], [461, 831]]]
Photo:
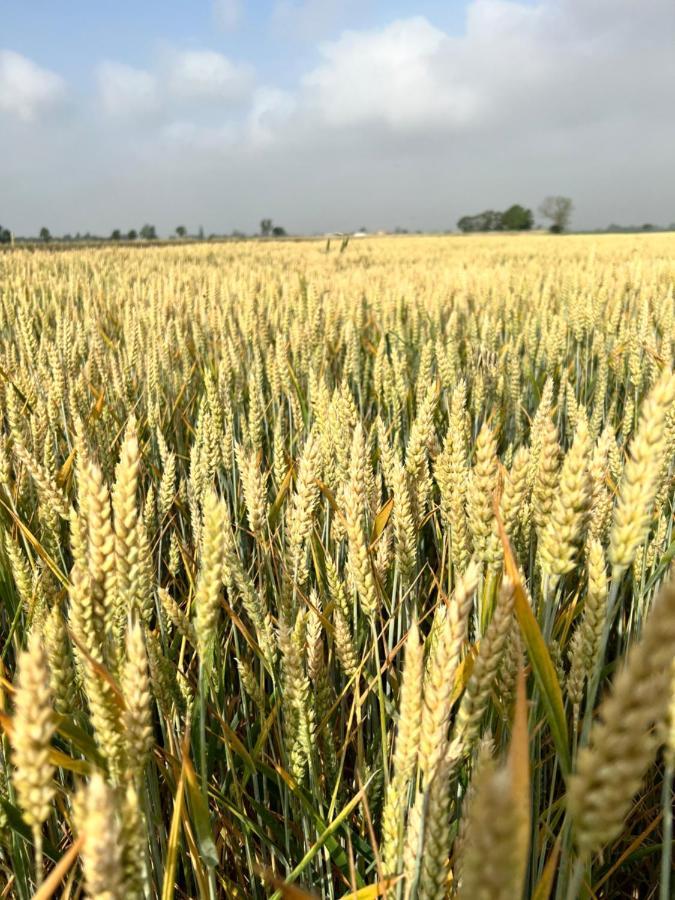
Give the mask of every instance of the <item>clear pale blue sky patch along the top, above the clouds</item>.
[[[223, 21], [219, 11], [223, 7], [234, 10], [234, 25]], [[143, 66], [163, 44], [208, 47], [232, 59], [253, 62], [261, 74], [289, 85], [316, 62], [316, 43], [321, 39], [344, 29], [382, 28], [413, 14], [459, 33], [466, 3], [0, 0], [0, 11], [4, 46], [40, 59], [86, 91], [91, 71], [102, 57]]]

